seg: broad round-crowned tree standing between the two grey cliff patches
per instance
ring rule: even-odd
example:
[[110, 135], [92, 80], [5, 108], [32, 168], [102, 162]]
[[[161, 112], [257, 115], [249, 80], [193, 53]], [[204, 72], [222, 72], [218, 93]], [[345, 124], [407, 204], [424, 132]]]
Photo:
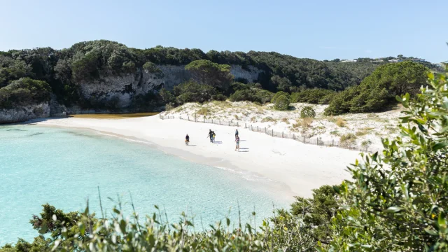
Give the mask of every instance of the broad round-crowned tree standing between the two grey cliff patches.
[[200, 59], [185, 66], [193, 74], [193, 78], [202, 85], [210, 85], [219, 90], [228, 91], [234, 76], [230, 73], [228, 64], [217, 64], [207, 59]]

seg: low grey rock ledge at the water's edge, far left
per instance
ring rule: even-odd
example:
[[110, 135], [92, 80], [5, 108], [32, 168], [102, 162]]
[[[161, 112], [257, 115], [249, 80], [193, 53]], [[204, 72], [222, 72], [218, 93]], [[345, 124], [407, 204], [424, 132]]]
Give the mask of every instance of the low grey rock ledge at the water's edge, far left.
[[1, 123], [21, 123], [34, 118], [47, 118], [50, 116], [48, 102], [22, 106], [14, 109], [0, 109]]

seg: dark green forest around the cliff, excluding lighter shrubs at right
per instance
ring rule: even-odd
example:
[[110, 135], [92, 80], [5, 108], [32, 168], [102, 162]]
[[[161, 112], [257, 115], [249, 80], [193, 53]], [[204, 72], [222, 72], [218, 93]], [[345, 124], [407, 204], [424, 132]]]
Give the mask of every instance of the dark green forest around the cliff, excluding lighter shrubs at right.
[[[201, 101], [207, 101], [225, 99], [238, 91], [244, 95], [237, 94], [235, 99], [244, 99], [250, 96], [249, 93], [262, 93], [254, 91], [254, 88], [273, 93], [302, 92], [314, 88], [342, 91], [359, 85], [361, 80], [372, 73], [379, 64], [325, 63], [314, 59], [298, 59], [276, 52], [211, 50], [205, 53], [199, 49], [162, 46], [136, 49], [105, 40], [80, 42], [62, 50], [52, 48], [10, 50], [0, 52], [0, 109], [48, 101], [50, 93], [55, 94], [58, 102], [66, 106], [77, 105], [84, 109], [114, 108], [113, 99], [94, 100], [92, 97], [83, 96], [80, 85], [94, 83], [95, 80], [102, 80], [106, 76], [137, 74], [142, 70], [159, 73], [162, 76], [163, 73], [159, 69], [161, 65], [186, 66], [186, 71], [196, 77], [201, 76], [201, 71], [214, 71], [214, 75], [202, 75], [202, 80], [207, 77], [209, 81], [200, 83], [211, 85], [213, 88], [197, 87], [207, 90], [207, 95], [200, 98]], [[228, 74], [230, 65], [239, 65], [247, 70], [253, 66], [260, 69], [260, 74], [255, 83], [248, 83], [244, 79], [232, 78]], [[212, 83], [214, 80], [210, 78], [216, 76], [221, 78], [219, 81], [225, 86], [220, 87]], [[197, 78], [195, 80], [196, 83], [200, 82]], [[186, 85], [193, 87], [191, 83], [184, 84], [184, 87]], [[193, 95], [195, 93], [186, 88], [180, 90], [190, 94], [185, 94], [177, 100], [173, 100], [172, 97], [164, 99], [159, 92], [161, 87], [151, 90], [148, 94], [135, 96], [130, 106], [149, 110], [151, 106], [167, 103], [176, 106], [183, 102], [200, 102], [195, 100]], [[169, 92], [174, 94], [173, 90]], [[181, 94], [178, 92], [177, 96]], [[257, 95], [255, 100], [265, 101]]]

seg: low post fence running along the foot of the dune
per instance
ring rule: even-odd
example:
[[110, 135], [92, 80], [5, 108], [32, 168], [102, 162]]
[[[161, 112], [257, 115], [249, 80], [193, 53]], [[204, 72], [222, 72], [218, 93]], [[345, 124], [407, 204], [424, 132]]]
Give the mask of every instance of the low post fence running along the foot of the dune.
[[354, 144], [353, 142], [346, 141], [341, 142], [335, 139], [332, 140], [322, 140], [320, 137], [304, 137], [300, 134], [295, 133], [289, 133], [289, 132], [276, 132], [272, 129], [268, 129], [267, 127], [260, 127], [257, 125], [248, 125], [247, 123], [241, 123], [238, 121], [226, 121], [226, 120], [216, 120], [216, 119], [207, 119], [207, 118], [198, 118], [193, 116], [162, 116], [159, 115], [160, 119], [167, 120], [167, 119], [181, 119], [181, 120], [188, 120], [190, 122], [195, 123], [211, 123], [216, 125], [225, 125], [225, 126], [236, 126], [236, 127], [244, 127], [246, 130], [251, 130], [253, 132], [261, 132], [265, 133], [271, 137], [278, 137], [278, 138], [284, 138], [284, 139], [293, 139], [295, 141], [300, 141], [303, 144], [314, 144], [317, 146], [328, 146], [328, 147], [337, 147], [337, 148], [344, 148], [352, 151], [363, 151], [367, 153], [375, 153], [377, 151], [381, 151], [379, 148], [372, 148], [372, 146], [360, 146], [358, 144]]

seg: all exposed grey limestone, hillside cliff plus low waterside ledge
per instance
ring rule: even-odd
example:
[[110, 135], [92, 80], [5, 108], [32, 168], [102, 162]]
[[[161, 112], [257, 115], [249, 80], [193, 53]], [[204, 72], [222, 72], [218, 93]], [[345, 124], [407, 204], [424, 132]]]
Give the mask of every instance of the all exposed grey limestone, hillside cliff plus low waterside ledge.
[[[165, 87], [172, 90], [176, 85], [190, 80], [190, 72], [185, 65], [159, 65], [154, 73], [144, 69], [137, 69], [135, 73], [113, 74], [104, 73], [96, 80], [86, 80], [77, 85], [83, 97], [97, 102], [113, 101], [120, 111], [127, 111], [134, 97], [140, 94], [148, 94]], [[262, 70], [255, 66], [232, 65], [230, 72], [235, 79], [244, 79], [248, 83], [255, 82]], [[20, 123], [34, 118], [65, 117], [71, 113], [111, 113], [111, 111], [85, 111], [78, 106], [66, 108], [57, 103], [52, 94], [50, 104], [34, 104], [14, 109], [0, 109], [0, 123]]]

